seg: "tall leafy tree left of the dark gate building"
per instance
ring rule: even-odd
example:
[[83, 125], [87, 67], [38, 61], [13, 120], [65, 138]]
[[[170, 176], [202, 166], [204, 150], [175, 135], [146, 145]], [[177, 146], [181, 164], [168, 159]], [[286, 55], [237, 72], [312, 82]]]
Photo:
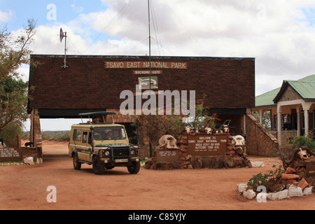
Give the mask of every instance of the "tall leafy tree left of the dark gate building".
[[27, 119], [28, 82], [18, 73], [22, 64], [30, 62], [29, 44], [35, 34], [36, 22], [27, 22], [16, 38], [6, 27], [0, 28], [0, 132], [9, 123]]

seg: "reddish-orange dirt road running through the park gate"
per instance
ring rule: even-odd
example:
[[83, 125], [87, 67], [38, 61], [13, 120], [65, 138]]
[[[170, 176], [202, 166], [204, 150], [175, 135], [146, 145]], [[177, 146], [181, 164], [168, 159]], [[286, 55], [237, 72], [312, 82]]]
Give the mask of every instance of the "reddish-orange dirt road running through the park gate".
[[[95, 175], [92, 167], [73, 169], [66, 143], [43, 144], [43, 164], [0, 167], [0, 209], [31, 210], [209, 210], [209, 209], [315, 209], [315, 195], [258, 203], [238, 195], [237, 183], [246, 183], [260, 172], [267, 173], [277, 158], [249, 157], [265, 167], [238, 169], [141, 168], [129, 174], [127, 168]], [[48, 203], [48, 186], [55, 186], [57, 202]]]

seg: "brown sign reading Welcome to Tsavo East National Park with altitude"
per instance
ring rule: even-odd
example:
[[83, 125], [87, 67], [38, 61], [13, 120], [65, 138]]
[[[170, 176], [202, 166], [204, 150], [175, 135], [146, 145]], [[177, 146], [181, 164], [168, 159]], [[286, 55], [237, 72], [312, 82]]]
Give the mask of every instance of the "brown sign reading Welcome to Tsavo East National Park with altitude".
[[188, 154], [190, 155], [224, 155], [227, 151], [227, 134], [188, 135]]

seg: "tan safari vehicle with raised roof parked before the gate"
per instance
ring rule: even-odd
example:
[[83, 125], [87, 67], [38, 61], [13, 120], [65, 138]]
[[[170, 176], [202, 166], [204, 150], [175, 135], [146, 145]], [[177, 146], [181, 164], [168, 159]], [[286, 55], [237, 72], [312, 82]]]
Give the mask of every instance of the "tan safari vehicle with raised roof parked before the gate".
[[[89, 121], [71, 126], [69, 157], [73, 158], [73, 168], [80, 169], [83, 163], [92, 165], [95, 174], [104, 174], [105, 169], [127, 167], [130, 174], [140, 170], [138, 148], [130, 146], [125, 127], [115, 123], [104, 123], [104, 116], [115, 112], [80, 113]], [[91, 122], [90, 116], [97, 118]], [[101, 117], [103, 119], [100, 119]], [[95, 120], [103, 123], [96, 123]]]

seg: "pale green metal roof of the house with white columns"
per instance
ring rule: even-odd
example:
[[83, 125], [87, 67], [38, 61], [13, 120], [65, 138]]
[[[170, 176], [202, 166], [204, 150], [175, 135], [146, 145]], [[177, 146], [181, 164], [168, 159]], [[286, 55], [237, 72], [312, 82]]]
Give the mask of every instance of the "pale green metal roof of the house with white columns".
[[293, 87], [305, 101], [315, 101], [315, 75], [311, 75], [299, 80], [283, 80], [281, 87], [255, 97], [255, 107], [276, 106], [276, 102], [286, 90], [287, 85]]

